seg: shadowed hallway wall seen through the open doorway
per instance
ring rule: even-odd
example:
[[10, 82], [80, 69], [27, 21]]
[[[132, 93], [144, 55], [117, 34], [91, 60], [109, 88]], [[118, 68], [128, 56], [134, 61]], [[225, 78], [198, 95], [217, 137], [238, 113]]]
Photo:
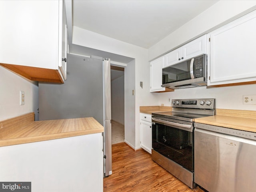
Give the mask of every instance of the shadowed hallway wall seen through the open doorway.
[[124, 125], [124, 75], [111, 81], [111, 119]]

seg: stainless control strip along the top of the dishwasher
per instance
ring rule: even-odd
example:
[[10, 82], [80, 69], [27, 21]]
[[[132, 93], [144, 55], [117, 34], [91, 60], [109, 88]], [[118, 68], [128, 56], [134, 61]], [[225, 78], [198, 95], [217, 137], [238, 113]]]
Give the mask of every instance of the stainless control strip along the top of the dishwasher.
[[204, 129], [204, 130], [209, 130], [209, 131], [223, 133], [223, 134], [227, 134], [227, 135], [256, 140], [256, 133], [254, 133], [254, 132], [219, 127], [219, 126], [214, 126], [214, 125], [207, 125], [207, 124], [202, 124], [202, 123], [195, 123], [194, 126], [196, 128], [200, 128], [200, 129]]

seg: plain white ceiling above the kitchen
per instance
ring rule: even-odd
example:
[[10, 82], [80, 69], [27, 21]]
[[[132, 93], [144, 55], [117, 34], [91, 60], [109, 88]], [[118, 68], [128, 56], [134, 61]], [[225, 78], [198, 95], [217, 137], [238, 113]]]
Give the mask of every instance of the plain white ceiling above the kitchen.
[[218, 0], [73, 0], [73, 25], [150, 48]]

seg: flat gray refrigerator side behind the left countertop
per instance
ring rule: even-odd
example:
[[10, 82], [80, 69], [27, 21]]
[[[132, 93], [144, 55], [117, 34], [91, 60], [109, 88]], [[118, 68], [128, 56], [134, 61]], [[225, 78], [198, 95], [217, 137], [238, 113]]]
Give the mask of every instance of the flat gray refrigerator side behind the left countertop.
[[94, 117], [103, 125], [102, 60], [68, 54], [64, 84], [39, 83], [39, 120]]

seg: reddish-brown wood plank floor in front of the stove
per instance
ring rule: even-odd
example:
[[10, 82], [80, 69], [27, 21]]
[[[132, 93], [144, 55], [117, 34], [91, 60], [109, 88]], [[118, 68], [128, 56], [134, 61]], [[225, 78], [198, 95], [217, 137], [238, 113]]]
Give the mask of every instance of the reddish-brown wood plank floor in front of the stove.
[[190, 189], [154, 161], [144, 150], [124, 142], [112, 145], [112, 175], [103, 179], [104, 192], [204, 192]]

